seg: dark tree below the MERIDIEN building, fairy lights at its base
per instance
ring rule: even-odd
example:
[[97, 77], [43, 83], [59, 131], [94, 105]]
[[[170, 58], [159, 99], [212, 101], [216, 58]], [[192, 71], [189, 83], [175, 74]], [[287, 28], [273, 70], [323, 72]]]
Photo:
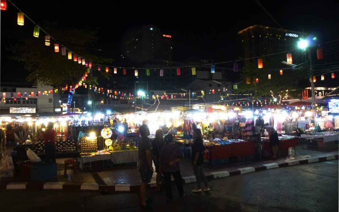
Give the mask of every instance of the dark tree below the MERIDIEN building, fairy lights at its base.
[[[280, 66], [280, 67], [279, 67]], [[281, 68], [284, 66], [284, 68]], [[254, 98], [273, 97], [278, 101], [282, 100], [286, 95], [292, 98], [300, 98], [304, 89], [302, 81], [307, 79], [305, 75], [307, 67], [292, 68], [287, 65], [280, 64], [277, 60], [263, 58], [263, 68], [258, 69], [256, 62], [247, 63], [243, 67], [240, 77], [243, 79], [238, 84], [237, 93], [251, 93]], [[283, 74], [280, 75], [280, 70]], [[271, 79], [268, 79], [271, 74]], [[258, 82], [256, 82], [258, 79]]]

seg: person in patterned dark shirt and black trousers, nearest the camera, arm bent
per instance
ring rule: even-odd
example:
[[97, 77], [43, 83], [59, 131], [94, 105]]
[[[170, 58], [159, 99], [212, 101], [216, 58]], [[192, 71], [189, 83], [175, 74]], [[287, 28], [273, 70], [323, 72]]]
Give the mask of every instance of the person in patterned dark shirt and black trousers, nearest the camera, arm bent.
[[165, 190], [168, 201], [173, 199], [171, 175], [173, 176], [181, 198], [185, 196], [180, 174], [179, 161], [183, 158], [180, 147], [173, 141], [173, 135], [165, 136], [165, 145], [160, 151], [160, 171], [164, 174]]

